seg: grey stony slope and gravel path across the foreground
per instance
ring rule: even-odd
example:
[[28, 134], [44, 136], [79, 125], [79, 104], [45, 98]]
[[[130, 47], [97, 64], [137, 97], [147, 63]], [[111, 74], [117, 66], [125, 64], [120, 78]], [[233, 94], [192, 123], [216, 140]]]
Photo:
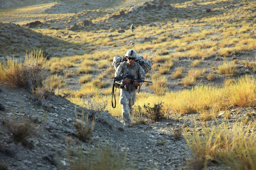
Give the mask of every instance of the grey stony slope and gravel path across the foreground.
[[[202, 124], [204, 126], [216, 124], [214, 119], [201, 122], [198, 120], [198, 114], [188, 114], [182, 115], [178, 121], [172, 117], [155, 123], [148, 120], [147, 124], [123, 127], [120, 117], [114, 118], [105, 111], [96, 119], [89, 142], [81, 142], [72, 134], [75, 131], [73, 126], [76, 120], [75, 112], [81, 114], [82, 109], [65, 98], [53, 95], [44, 101], [43, 107], [35, 107], [29, 91], [9, 88], [2, 84], [0, 103], [2, 104], [1, 122], [17, 116], [31, 116], [31, 119], [38, 122], [35, 133], [27, 139], [28, 146], [22, 146], [12, 140], [3, 123], [0, 124], [0, 160], [13, 170], [60, 169], [57, 164], [66, 167], [68, 145], [82, 149], [85, 154], [90, 152], [90, 148], [104, 145], [117, 148], [120, 152], [125, 150], [126, 161], [135, 166], [134, 169], [186, 169], [192, 153], [187, 148], [183, 134], [192, 133], [195, 129], [200, 131]], [[228, 122], [228, 126], [231, 127], [238, 119], [248, 117], [249, 112], [255, 114], [255, 111], [254, 107], [231, 109], [229, 120], [225, 120], [223, 113], [220, 112], [217, 121]], [[85, 112], [94, 113], [86, 109]], [[179, 131], [179, 127], [187, 130]], [[177, 137], [177, 135], [181, 136]], [[208, 169], [216, 168], [220, 167], [217, 165], [208, 167]], [[187, 169], [191, 168], [187, 167]]]

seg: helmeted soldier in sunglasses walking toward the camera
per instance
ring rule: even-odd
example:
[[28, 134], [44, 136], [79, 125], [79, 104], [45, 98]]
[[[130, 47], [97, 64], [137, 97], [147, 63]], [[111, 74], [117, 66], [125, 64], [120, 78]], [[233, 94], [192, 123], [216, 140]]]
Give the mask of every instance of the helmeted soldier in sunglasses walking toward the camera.
[[[134, 79], [144, 80], [145, 72], [140, 64], [135, 62], [137, 59], [137, 52], [135, 50], [128, 50], [125, 57], [127, 58], [127, 61], [122, 62], [118, 66], [115, 72], [115, 77], [123, 78], [129, 75], [133, 76]], [[121, 84], [119, 103], [122, 104], [124, 126], [126, 127], [131, 124], [130, 116], [133, 113], [132, 106], [136, 100], [137, 87], [143, 84], [143, 82], [139, 83], [137, 81], [133, 81], [131, 84], [130, 80], [131, 79], [125, 78], [123, 80], [116, 81], [116, 83]]]

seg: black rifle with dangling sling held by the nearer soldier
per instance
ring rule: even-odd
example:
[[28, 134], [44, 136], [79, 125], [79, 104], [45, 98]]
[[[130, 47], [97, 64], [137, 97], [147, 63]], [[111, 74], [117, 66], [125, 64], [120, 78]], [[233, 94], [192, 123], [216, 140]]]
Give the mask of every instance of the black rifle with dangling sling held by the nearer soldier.
[[[126, 74], [126, 76], [125, 77], [114, 77], [114, 83], [113, 83], [113, 87], [112, 87], [112, 107], [113, 108], [115, 108], [115, 106], [114, 106], [114, 104], [113, 104], [113, 97], [114, 97], [114, 99], [115, 99], [115, 90], [114, 90], [114, 84], [115, 84], [115, 81], [117, 81], [117, 80], [123, 80], [123, 79], [126, 79], [126, 78], [128, 78], [128, 79], [130, 79], [130, 83], [129, 84], [126, 84], [123, 88], [128, 88], [128, 89], [132, 89], [132, 83], [133, 83], [133, 81], [137, 81], [137, 82], [139, 82], [139, 83], [141, 83], [141, 82], [147, 82], [147, 83], [153, 83], [153, 82], [148, 82], [148, 81], [144, 81], [143, 79], [134, 79], [133, 78], [133, 76], [132, 75], [127, 75]], [[136, 86], [136, 89], [137, 89], [137, 87], [138, 86]], [[139, 90], [138, 90], [138, 93], [140, 93], [140, 88], [141, 88], [141, 86], [139, 87]], [[115, 100], [116, 101], [116, 100]], [[116, 102], [115, 102], [115, 104], [116, 104]]]

